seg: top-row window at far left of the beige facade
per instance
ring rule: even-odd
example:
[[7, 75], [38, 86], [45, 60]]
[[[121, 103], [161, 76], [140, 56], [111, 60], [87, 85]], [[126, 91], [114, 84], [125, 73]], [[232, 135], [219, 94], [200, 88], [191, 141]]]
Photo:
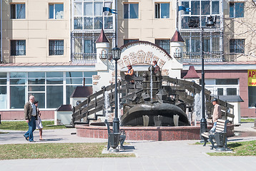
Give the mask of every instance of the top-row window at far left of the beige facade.
[[25, 4], [11, 4], [11, 19], [25, 19]]

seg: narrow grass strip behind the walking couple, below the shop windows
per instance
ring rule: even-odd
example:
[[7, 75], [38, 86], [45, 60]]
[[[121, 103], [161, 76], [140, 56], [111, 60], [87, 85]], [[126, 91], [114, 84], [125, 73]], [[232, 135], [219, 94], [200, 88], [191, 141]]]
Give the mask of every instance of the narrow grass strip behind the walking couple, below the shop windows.
[[[44, 130], [64, 129], [64, 125], [54, 125], [54, 120], [41, 122]], [[1, 121], [0, 130], [28, 130], [29, 126], [26, 121]]]

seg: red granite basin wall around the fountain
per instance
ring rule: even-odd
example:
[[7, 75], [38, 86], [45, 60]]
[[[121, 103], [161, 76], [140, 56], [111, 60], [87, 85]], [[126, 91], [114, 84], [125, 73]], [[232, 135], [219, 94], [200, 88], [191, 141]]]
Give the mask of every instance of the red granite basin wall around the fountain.
[[[79, 137], [107, 139], [107, 127], [76, 125], [76, 128]], [[126, 140], [200, 140], [200, 126], [121, 127], [120, 129], [125, 130]], [[227, 137], [233, 135], [234, 125], [227, 125]]]

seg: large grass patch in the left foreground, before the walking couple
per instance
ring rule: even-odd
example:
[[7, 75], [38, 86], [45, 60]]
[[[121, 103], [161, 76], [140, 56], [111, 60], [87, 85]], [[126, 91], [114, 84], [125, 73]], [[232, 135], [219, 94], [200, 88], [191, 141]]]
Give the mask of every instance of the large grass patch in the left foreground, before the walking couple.
[[135, 157], [133, 153], [102, 154], [102, 150], [106, 145], [106, 142], [7, 144], [0, 145], [0, 160], [74, 157]]

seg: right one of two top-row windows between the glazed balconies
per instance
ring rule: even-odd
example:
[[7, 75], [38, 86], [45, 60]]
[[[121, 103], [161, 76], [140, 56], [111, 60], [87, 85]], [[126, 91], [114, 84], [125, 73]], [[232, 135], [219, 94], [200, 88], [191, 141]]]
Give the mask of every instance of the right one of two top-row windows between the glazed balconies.
[[169, 19], [169, 3], [155, 4], [154, 13], [156, 19]]

